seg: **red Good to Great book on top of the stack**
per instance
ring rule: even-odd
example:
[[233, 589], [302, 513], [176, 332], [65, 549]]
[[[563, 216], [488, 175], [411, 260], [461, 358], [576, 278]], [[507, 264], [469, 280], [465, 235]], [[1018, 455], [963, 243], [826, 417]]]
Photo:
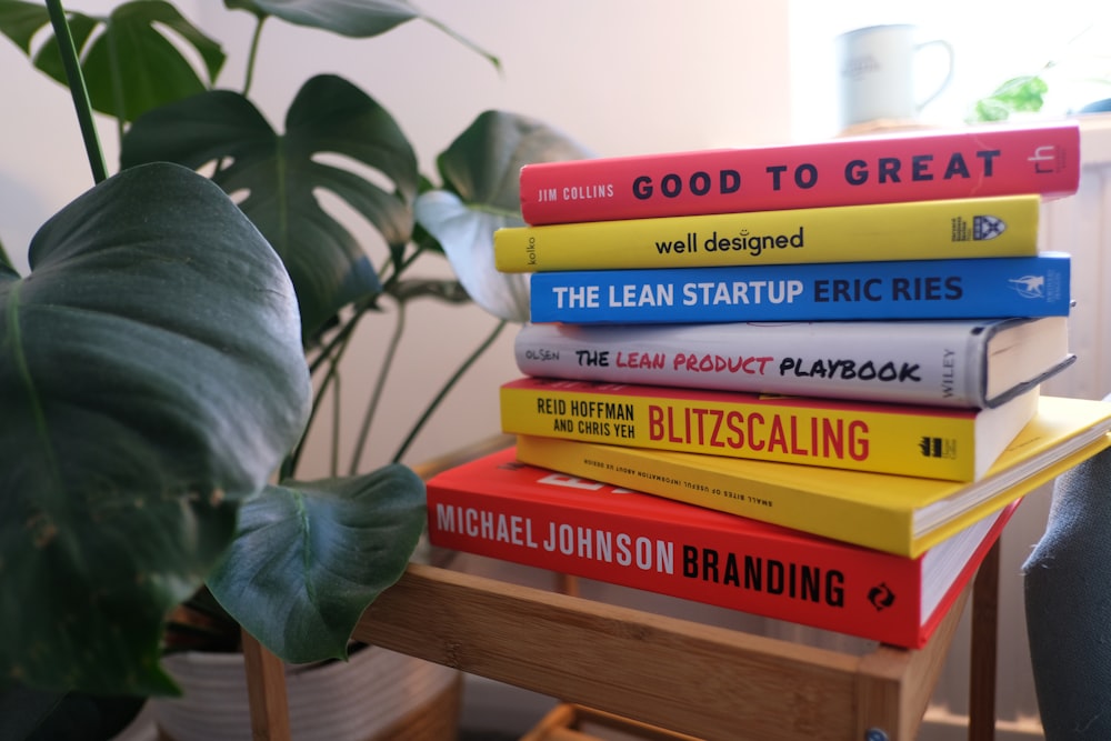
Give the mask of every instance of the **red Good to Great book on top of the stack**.
[[1080, 183], [1075, 121], [538, 162], [521, 168], [533, 226], [1039, 193]]

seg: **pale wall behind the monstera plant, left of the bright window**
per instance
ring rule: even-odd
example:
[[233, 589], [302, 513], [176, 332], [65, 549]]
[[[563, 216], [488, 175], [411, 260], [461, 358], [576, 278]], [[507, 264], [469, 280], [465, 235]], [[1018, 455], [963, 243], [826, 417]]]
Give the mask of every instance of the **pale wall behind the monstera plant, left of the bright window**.
[[[70, 0], [66, 7], [102, 12], [112, 4]], [[426, 0], [418, 4], [499, 57], [503, 71], [422, 21], [369, 40], [270, 21], [253, 97], [272, 124], [280, 129], [306, 79], [336, 72], [393, 113], [416, 142], [427, 173], [434, 172], [436, 154], [490, 108], [543, 119], [600, 154], [767, 143], [787, 137], [785, 3], [568, 0], [541, 6]], [[178, 6], [224, 43], [229, 61], [221, 84], [239, 89], [250, 17], [217, 2], [186, 0]], [[0, 242], [22, 270], [34, 229], [91, 186], [91, 176], [68, 93], [31, 70], [7, 39], [0, 39], [0, 96], [9, 101], [0, 139]], [[114, 129], [102, 123], [114, 170]], [[374, 240], [372, 233], [366, 236], [368, 243]], [[428, 270], [443, 273], [443, 266], [434, 261]], [[391, 327], [379, 321], [364, 328], [359, 372], [346, 378], [344, 408], [361, 409], [374, 359]], [[411, 313], [408, 327], [401, 362], [391, 377], [396, 382], [379, 412], [393, 428], [407, 427], [493, 320], [478, 309], [428, 306]], [[497, 431], [497, 384], [516, 375], [512, 334], [512, 328], [503, 332], [472, 369], [407, 460], [419, 461]], [[376, 433], [366, 465], [389, 458], [400, 434], [397, 429]]]

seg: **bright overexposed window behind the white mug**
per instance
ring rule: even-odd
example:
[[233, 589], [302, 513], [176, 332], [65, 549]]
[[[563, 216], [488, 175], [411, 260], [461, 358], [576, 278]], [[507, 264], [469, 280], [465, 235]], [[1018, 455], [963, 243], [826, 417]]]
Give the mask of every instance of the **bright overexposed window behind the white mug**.
[[[1031, 10], [1013, 0], [790, 0], [792, 138], [838, 132], [834, 39], [881, 23], [913, 23], [921, 40], [944, 39], [953, 47], [952, 82], [923, 109], [925, 123], [962, 123], [978, 99], [1020, 74], [1043, 74], [1049, 82], [1045, 116], [1111, 98], [1111, 12], [1103, 6], [1054, 0]], [[920, 77], [924, 94], [939, 77], [930, 79], [927, 52]]]

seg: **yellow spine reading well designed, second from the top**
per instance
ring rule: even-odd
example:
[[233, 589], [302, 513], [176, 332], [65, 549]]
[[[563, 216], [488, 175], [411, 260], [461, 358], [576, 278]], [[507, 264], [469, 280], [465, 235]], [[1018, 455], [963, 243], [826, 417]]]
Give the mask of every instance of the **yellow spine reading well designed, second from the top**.
[[1033, 256], [1037, 196], [507, 227], [502, 272]]

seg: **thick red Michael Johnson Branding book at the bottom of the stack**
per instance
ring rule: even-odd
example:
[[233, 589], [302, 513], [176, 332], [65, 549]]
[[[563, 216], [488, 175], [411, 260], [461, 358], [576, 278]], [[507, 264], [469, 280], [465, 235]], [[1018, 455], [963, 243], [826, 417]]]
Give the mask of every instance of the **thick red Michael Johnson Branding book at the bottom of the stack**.
[[513, 448], [428, 481], [434, 545], [905, 648], [1017, 505], [909, 559], [527, 465]]

